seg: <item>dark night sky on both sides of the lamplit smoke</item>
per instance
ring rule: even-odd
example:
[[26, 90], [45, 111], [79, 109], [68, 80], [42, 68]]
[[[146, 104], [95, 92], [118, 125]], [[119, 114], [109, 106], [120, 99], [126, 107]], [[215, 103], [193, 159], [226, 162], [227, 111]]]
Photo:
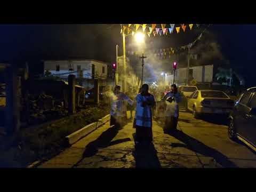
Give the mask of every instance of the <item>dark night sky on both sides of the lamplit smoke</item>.
[[[210, 30], [217, 34], [231, 66], [246, 77], [247, 85], [255, 85], [256, 25], [213, 25]], [[184, 37], [178, 35], [173, 46], [179, 46]], [[0, 25], [0, 61], [86, 58], [114, 62], [115, 45], [121, 42], [119, 25]]]

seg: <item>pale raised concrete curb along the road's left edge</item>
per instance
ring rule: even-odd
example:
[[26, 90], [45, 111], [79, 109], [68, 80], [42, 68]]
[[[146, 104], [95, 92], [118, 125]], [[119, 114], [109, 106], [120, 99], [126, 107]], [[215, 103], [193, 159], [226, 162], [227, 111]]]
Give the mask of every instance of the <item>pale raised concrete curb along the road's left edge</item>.
[[[73, 145], [75, 142], [77, 142], [79, 139], [85, 137], [86, 135], [90, 134], [92, 131], [96, 130], [101, 125], [107, 123], [110, 121], [110, 115], [106, 115], [105, 117], [99, 119], [97, 122], [91, 123], [89, 125], [86, 125], [82, 129], [79, 129], [78, 131], [71, 133], [65, 139], [69, 143], [69, 145]], [[41, 161], [35, 161], [34, 163], [27, 166], [27, 168], [31, 169], [36, 167], [37, 165], [41, 164]]]

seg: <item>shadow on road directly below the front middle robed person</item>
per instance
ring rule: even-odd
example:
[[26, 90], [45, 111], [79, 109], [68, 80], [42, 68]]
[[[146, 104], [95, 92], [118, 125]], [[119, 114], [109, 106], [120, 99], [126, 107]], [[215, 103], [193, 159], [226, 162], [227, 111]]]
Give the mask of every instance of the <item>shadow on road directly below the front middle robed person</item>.
[[[135, 140], [135, 133], [133, 134]], [[133, 151], [135, 166], [139, 169], [156, 169], [161, 168], [161, 164], [157, 157], [157, 150], [153, 143], [135, 145]]]

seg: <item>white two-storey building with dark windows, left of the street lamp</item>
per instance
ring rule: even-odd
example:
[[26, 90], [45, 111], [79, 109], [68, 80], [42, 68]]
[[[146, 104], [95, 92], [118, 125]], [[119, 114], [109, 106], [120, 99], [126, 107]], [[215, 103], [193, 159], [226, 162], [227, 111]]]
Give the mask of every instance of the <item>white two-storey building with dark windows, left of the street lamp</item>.
[[49, 71], [52, 75], [65, 81], [68, 81], [68, 75], [73, 74], [79, 79], [80, 84], [87, 89], [93, 87], [94, 78], [107, 79], [108, 67], [106, 62], [97, 60], [44, 60], [43, 62], [44, 73]]

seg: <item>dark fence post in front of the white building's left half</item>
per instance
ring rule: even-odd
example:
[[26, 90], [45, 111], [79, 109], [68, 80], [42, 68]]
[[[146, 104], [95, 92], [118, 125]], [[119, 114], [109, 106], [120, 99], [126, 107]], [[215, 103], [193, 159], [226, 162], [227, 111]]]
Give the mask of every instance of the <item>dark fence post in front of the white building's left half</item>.
[[68, 114], [72, 115], [76, 110], [75, 75], [68, 76]]

